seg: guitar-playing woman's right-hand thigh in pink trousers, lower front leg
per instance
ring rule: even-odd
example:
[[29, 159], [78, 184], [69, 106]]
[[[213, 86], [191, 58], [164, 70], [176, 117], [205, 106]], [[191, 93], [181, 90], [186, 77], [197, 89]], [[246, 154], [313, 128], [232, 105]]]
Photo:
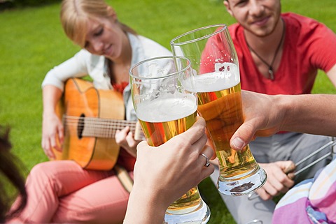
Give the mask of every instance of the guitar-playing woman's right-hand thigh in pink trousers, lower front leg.
[[[132, 172], [130, 172], [133, 177]], [[59, 200], [54, 223], [123, 223], [129, 193], [115, 175]]]

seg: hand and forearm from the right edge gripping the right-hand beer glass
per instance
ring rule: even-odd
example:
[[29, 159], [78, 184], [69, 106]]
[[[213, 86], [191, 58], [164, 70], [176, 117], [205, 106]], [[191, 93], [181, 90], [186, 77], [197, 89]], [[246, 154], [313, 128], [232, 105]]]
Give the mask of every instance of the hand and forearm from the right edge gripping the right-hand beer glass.
[[255, 136], [269, 136], [279, 130], [335, 135], [336, 95], [269, 96], [242, 91], [244, 124], [232, 135], [230, 145], [240, 150]]

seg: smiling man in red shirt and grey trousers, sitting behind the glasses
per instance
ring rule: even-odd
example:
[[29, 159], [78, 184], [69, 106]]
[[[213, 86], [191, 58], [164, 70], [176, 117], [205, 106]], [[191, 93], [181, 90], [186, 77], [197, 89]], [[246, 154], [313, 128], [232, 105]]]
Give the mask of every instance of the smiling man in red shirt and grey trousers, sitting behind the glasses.
[[[229, 31], [239, 58], [241, 89], [273, 95], [310, 94], [318, 69], [336, 86], [336, 35], [324, 24], [281, 13], [280, 0], [225, 0], [224, 5], [237, 20]], [[328, 142], [330, 137], [283, 132], [251, 142], [253, 156], [267, 172], [267, 183], [257, 191], [259, 197], [221, 195], [235, 221], [271, 223], [275, 207], [272, 197], [286, 193], [294, 184], [286, 175], [286, 167]], [[326, 148], [296, 170], [330, 150]], [[314, 177], [328, 162], [322, 160], [297, 174], [295, 182]], [[215, 183], [217, 177], [218, 170], [211, 175]], [[243, 205], [248, 209], [241, 209]]]

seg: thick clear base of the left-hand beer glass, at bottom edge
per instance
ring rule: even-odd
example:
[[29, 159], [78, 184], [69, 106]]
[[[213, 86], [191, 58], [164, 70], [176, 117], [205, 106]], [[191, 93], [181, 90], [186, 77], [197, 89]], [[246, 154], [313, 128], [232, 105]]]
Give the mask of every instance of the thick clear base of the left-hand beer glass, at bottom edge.
[[203, 200], [197, 207], [182, 209], [174, 214], [166, 211], [165, 224], [205, 224], [210, 218], [210, 209]]

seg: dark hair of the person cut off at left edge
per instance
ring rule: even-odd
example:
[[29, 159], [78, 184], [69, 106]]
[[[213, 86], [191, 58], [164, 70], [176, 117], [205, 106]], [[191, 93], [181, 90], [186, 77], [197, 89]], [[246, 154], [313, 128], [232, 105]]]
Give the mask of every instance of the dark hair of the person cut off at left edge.
[[8, 140], [9, 128], [0, 126], [0, 174], [10, 181], [20, 193], [20, 203], [18, 207], [8, 212], [10, 209], [10, 199], [3, 186], [3, 179], [0, 179], [0, 223], [6, 219], [16, 216], [27, 204], [27, 192], [25, 189], [25, 179], [18, 169], [19, 160], [10, 153], [11, 144]]

